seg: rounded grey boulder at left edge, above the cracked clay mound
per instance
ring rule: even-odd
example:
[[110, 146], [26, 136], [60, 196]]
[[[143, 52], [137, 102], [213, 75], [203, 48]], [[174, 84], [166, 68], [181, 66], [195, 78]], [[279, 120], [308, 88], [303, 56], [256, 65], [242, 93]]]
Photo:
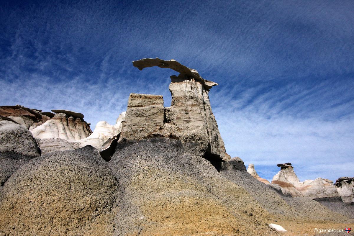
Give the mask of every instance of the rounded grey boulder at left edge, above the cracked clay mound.
[[0, 121], [0, 151], [12, 151], [28, 156], [39, 156], [40, 149], [32, 133], [18, 123]]

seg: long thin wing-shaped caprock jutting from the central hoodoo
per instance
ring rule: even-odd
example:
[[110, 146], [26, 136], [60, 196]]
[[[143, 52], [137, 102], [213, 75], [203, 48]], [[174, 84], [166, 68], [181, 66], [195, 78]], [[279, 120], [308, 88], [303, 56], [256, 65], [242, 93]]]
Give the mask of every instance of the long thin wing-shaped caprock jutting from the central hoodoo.
[[175, 70], [179, 73], [181, 73], [179, 76], [189, 76], [192, 77], [198, 81], [201, 81], [202, 85], [210, 90], [212, 86], [218, 85], [217, 83], [209, 80], [203, 79], [198, 71], [194, 69], [190, 69], [186, 67], [185, 65], [182, 65], [181, 63], [171, 59], [169, 61], [161, 60], [160, 58], [156, 57], [154, 58], [143, 58], [138, 61], [133, 61], [133, 66], [138, 68], [139, 70], [142, 70], [146, 67], [160, 67], [160, 68], [170, 68], [172, 70]]

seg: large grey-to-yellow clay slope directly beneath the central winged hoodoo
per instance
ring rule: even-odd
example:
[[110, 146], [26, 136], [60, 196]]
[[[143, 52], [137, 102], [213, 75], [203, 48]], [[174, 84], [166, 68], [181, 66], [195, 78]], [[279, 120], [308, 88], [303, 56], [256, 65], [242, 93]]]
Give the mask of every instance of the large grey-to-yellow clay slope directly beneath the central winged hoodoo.
[[269, 213], [196, 150], [168, 138], [118, 143], [108, 162], [123, 193], [115, 235], [276, 235]]

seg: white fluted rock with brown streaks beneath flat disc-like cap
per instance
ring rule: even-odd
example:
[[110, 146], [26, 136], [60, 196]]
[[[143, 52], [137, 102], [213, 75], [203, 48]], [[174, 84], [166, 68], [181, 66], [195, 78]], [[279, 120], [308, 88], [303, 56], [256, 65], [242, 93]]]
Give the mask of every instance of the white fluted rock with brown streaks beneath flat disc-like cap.
[[30, 130], [35, 138], [60, 138], [69, 142], [89, 137], [90, 126], [79, 117], [57, 113], [52, 119]]

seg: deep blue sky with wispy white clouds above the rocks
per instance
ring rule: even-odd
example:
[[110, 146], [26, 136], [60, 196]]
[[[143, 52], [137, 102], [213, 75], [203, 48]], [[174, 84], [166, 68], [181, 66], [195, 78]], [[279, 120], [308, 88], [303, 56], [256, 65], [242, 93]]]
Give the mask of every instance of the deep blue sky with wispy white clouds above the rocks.
[[0, 101], [115, 123], [131, 92], [162, 94], [175, 59], [209, 93], [227, 152], [272, 179], [353, 176], [354, 4], [349, 1], [0, 2]]

